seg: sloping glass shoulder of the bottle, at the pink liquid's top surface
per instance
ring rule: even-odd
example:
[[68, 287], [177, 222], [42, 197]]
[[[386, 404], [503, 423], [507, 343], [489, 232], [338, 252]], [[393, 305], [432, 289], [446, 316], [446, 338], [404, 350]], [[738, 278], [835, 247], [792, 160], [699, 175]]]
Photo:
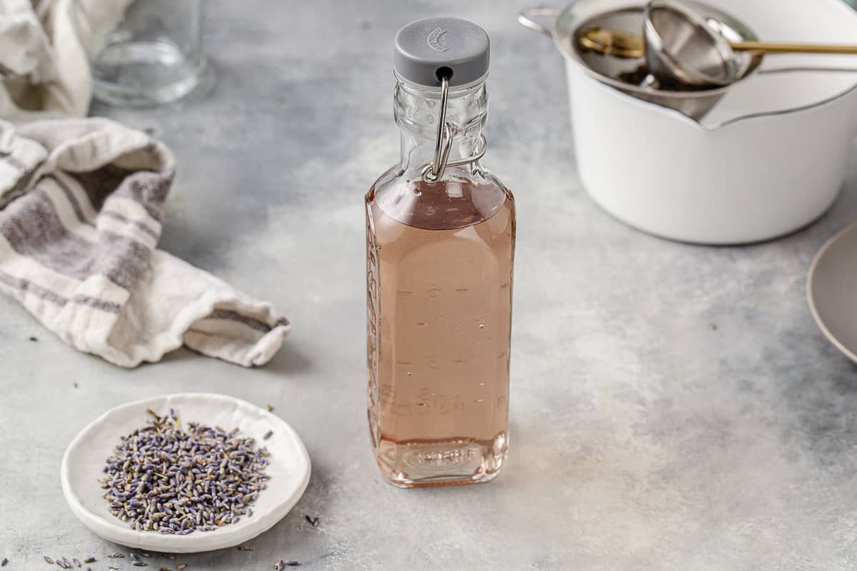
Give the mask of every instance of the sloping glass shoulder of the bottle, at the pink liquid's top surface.
[[493, 217], [514, 198], [489, 170], [469, 166], [447, 169], [436, 182], [398, 166], [381, 175], [366, 194], [368, 205], [393, 220], [422, 229], [458, 229]]

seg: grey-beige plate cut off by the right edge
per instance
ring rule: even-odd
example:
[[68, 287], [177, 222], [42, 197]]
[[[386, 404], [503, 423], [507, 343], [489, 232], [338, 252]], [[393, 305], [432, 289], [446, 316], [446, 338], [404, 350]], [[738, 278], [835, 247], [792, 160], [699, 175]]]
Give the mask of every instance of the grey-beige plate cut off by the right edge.
[[806, 278], [806, 298], [824, 336], [857, 363], [857, 223], [818, 250]]

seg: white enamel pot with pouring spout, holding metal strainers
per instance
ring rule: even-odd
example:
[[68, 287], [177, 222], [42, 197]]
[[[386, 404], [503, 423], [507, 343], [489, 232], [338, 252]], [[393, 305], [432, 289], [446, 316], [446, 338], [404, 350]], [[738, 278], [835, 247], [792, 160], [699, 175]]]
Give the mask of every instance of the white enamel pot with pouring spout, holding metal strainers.
[[[578, 172], [598, 205], [678, 241], [738, 244], [820, 217], [842, 187], [857, 130], [857, 68], [842, 56], [765, 56], [700, 120], [598, 79], [572, 51], [575, 27], [645, 0], [577, 0], [554, 22], [566, 57]], [[760, 39], [854, 43], [857, 12], [841, 0], [708, 0]], [[800, 15], [800, 16], [798, 16]]]

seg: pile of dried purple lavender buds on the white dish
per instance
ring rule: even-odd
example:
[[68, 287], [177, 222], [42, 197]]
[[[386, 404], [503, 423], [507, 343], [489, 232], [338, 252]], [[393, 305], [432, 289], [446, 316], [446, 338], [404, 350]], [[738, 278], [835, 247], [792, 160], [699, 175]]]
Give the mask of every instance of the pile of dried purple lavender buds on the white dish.
[[251, 515], [270, 477], [268, 451], [255, 440], [177, 414], [159, 416], [122, 437], [101, 480], [111, 514], [132, 529], [187, 535], [237, 523]]

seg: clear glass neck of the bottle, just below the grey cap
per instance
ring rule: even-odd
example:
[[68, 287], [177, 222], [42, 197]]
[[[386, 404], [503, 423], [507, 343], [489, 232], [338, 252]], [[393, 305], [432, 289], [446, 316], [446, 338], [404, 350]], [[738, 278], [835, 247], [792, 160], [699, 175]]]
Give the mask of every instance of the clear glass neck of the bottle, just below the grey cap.
[[[393, 103], [396, 123], [401, 130], [401, 170], [422, 170], [434, 159], [440, 88], [430, 89], [399, 81]], [[450, 162], [470, 157], [476, 152], [487, 116], [488, 92], [484, 81], [450, 89], [446, 101], [446, 122], [452, 126]], [[474, 162], [456, 170], [478, 168], [478, 162]]]

